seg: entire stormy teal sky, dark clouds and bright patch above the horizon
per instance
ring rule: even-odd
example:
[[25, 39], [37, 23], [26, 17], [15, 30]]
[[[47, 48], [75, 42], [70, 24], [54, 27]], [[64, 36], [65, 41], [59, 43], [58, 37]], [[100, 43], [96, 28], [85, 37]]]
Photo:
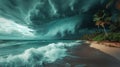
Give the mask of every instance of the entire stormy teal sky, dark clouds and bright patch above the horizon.
[[107, 0], [0, 0], [0, 39], [77, 39]]

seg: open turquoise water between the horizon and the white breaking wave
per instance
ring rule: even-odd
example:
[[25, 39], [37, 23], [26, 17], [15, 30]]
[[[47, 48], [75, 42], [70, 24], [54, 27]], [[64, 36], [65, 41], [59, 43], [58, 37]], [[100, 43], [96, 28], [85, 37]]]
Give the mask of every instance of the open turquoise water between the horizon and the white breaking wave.
[[51, 43], [69, 43], [75, 40], [38, 40], [38, 41], [4, 41], [0, 44], [0, 56], [19, 54], [29, 48], [39, 48]]

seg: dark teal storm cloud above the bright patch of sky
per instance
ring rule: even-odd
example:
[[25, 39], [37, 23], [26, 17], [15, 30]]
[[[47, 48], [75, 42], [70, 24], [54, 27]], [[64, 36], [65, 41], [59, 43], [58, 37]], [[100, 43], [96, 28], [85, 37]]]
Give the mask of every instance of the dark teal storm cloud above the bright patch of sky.
[[104, 6], [106, 0], [0, 1], [0, 17], [25, 25], [28, 30], [31, 27], [36, 31], [35, 36], [44, 38], [77, 36], [81, 34], [80, 30], [93, 29], [92, 16], [98, 7]]

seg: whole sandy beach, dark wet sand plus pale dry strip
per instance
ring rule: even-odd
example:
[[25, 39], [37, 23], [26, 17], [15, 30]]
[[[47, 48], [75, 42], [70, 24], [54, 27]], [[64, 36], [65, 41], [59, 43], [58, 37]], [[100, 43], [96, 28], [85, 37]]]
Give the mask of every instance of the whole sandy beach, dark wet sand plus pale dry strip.
[[[98, 45], [98, 44], [97, 44]], [[68, 51], [72, 57], [66, 57], [64, 62], [71, 64], [71, 67], [119, 67], [119, 48], [103, 46], [99, 47], [94, 43], [84, 43]], [[111, 51], [110, 51], [111, 50]], [[112, 52], [113, 51], [113, 52]], [[116, 53], [116, 54], [115, 54]]]

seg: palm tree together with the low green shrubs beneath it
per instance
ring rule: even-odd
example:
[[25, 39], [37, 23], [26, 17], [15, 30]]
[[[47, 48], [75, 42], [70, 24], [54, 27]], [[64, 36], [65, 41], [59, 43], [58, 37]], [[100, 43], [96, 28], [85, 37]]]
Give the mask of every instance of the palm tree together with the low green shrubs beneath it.
[[[120, 42], [120, 12], [117, 13], [115, 16], [115, 20], [112, 20], [112, 13], [111, 11], [107, 11], [108, 7], [112, 5], [115, 0], [109, 0], [108, 4], [106, 4], [106, 8], [97, 11], [93, 16], [93, 21], [96, 22], [95, 25], [98, 27], [103, 27], [105, 30], [105, 26], [107, 25], [107, 29], [109, 32], [104, 31], [107, 33], [107, 36], [103, 32], [92, 33], [92, 34], [85, 34], [81, 39], [84, 40], [95, 40], [95, 41], [114, 41]], [[118, 3], [118, 7], [120, 5]], [[109, 27], [108, 27], [109, 26]]]

